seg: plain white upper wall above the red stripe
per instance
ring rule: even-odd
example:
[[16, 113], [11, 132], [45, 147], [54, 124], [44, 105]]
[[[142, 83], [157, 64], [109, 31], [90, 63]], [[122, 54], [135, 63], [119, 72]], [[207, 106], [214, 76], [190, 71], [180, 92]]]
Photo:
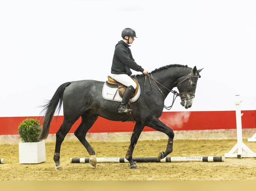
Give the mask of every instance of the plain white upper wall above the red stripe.
[[126, 27], [149, 72], [204, 68], [193, 106], [171, 111], [235, 110], [235, 95], [255, 110], [255, 10], [254, 0], [0, 0], [0, 117], [39, 115], [62, 83], [106, 81]]

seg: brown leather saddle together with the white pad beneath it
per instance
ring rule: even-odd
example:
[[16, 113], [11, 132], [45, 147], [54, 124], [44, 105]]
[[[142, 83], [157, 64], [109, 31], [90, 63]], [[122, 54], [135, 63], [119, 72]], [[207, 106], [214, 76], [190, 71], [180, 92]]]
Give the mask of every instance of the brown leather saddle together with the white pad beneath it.
[[[136, 83], [137, 87], [130, 98], [130, 102], [136, 101], [140, 95], [140, 87], [138, 81], [135, 78], [132, 79]], [[126, 88], [126, 86], [120, 84], [119, 82], [108, 76], [108, 81], [106, 81], [103, 85], [102, 97], [107, 100], [121, 102]]]

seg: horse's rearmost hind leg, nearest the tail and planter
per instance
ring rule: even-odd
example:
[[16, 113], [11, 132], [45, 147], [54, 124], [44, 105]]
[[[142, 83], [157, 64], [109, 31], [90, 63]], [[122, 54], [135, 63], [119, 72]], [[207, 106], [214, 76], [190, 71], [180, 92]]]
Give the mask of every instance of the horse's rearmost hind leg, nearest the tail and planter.
[[59, 130], [56, 132], [56, 143], [55, 143], [55, 151], [54, 151], [54, 156], [53, 156], [53, 160], [56, 165], [56, 167], [55, 167], [56, 170], [62, 170], [62, 167], [60, 166], [60, 163], [59, 163], [60, 146], [73, 124], [74, 124], [74, 122], [68, 122], [64, 118]]

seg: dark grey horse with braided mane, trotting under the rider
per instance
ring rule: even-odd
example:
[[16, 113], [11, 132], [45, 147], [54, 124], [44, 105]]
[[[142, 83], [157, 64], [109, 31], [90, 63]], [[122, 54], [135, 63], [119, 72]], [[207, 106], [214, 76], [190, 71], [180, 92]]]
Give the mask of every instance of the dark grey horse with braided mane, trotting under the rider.
[[[201, 69], [202, 70], [202, 69]], [[177, 96], [180, 97], [180, 104], [187, 108], [192, 106], [198, 78], [201, 76], [195, 66], [193, 69], [187, 65], [167, 65], [155, 69], [147, 75], [134, 75], [137, 78], [140, 95], [134, 102], [130, 102], [129, 108], [132, 109], [132, 119], [135, 122], [130, 145], [125, 158], [130, 163], [131, 169], [137, 169], [137, 164], [132, 159], [134, 147], [145, 126], [151, 127], [157, 131], [163, 132], [168, 136], [168, 142], [165, 151], [161, 151], [158, 160], [163, 159], [172, 152], [173, 130], [161, 122], [158, 118], [163, 112], [164, 100], [167, 95], [173, 93], [173, 102]], [[74, 134], [86, 148], [90, 158], [90, 164], [95, 168], [97, 158], [95, 150], [86, 140], [86, 134], [92, 127], [98, 116], [112, 121], [129, 121], [130, 116], [126, 113], [118, 113], [120, 102], [106, 100], [102, 96], [102, 89], [105, 82], [96, 80], [81, 80], [66, 82], [60, 85], [52, 98], [42, 105], [43, 124], [42, 130], [38, 136], [39, 140], [46, 139], [49, 134], [49, 127], [53, 115], [57, 115], [63, 104], [63, 122], [56, 132], [56, 143], [53, 160], [55, 169], [62, 170], [60, 166], [60, 146], [65, 136], [68, 134], [72, 125], [81, 117], [81, 123]], [[172, 91], [177, 87], [178, 92]], [[144, 90], [144, 91], [143, 91]], [[174, 95], [176, 97], [174, 98]], [[173, 104], [172, 102], [172, 104]], [[167, 108], [167, 107], [166, 107]]]

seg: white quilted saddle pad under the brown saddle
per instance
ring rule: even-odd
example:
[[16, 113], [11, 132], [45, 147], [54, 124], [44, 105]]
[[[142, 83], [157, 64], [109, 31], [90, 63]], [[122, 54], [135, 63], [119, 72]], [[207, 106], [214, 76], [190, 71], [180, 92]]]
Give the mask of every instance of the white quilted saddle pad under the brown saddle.
[[[140, 85], [137, 94], [130, 99], [130, 102], [136, 101], [140, 96]], [[118, 93], [118, 88], [112, 88], [109, 87], [106, 82], [103, 85], [102, 88], [102, 97], [107, 100], [113, 100], [113, 101], [122, 101], [122, 97], [120, 97]]]

